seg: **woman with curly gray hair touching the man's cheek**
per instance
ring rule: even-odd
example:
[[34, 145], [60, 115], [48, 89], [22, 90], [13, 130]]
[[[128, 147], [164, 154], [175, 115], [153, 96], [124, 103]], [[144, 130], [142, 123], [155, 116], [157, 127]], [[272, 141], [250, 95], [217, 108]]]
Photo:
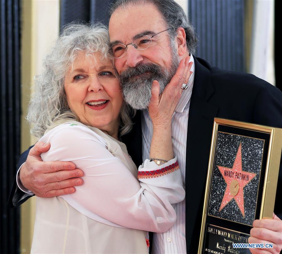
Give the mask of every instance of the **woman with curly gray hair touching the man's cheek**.
[[[167, 231], [176, 220], [172, 204], [184, 199], [170, 129], [183, 80], [173, 77], [169, 101], [153, 82], [152, 159], [137, 170], [120, 142], [132, 122], [108, 43], [103, 25], [71, 24], [36, 77], [27, 119], [51, 143], [42, 160], [72, 161], [84, 184], [71, 195], [37, 197], [32, 253], [148, 253], [146, 231]], [[189, 78], [188, 63], [178, 76]]]

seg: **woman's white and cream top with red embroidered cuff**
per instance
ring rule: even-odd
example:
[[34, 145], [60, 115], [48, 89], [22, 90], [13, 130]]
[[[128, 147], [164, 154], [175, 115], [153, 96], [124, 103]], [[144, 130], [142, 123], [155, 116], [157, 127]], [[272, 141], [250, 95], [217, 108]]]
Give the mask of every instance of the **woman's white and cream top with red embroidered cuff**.
[[176, 158], [137, 171], [125, 144], [72, 120], [40, 140], [51, 143], [42, 160], [72, 161], [84, 176], [71, 195], [37, 197], [32, 253], [147, 253], [144, 231], [176, 221], [172, 204], [185, 196]]

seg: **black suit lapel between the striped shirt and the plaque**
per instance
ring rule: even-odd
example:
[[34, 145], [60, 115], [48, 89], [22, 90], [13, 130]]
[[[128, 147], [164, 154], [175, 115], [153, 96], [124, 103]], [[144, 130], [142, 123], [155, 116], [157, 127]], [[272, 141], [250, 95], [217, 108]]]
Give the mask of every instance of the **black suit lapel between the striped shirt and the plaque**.
[[[210, 154], [213, 120], [218, 107], [208, 103], [214, 93], [209, 65], [195, 60], [195, 79], [192, 90], [186, 147], [186, 244], [187, 253], [196, 253], [202, 218], [203, 194]], [[192, 249], [191, 249], [192, 248]]]

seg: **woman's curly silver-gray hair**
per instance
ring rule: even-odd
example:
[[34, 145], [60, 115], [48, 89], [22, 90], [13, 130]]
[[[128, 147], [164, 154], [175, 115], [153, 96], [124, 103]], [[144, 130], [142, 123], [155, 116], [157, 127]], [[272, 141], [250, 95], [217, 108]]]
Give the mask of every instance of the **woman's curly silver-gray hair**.
[[[56, 125], [58, 120], [79, 120], [67, 104], [64, 82], [67, 70], [80, 52], [86, 57], [93, 57], [93, 53], [98, 52], [102, 61], [112, 59], [108, 28], [102, 24], [71, 23], [63, 29], [51, 53], [45, 57], [43, 74], [35, 77], [35, 92], [27, 115], [33, 135], [43, 136], [45, 130]], [[132, 128], [130, 113], [131, 109], [124, 102], [120, 112], [120, 135]]]

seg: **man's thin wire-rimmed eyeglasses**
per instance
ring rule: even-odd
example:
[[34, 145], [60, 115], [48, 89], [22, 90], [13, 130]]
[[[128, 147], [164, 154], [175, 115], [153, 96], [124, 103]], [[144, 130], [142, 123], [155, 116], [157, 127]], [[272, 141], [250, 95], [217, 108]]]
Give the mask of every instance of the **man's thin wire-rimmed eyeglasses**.
[[[163, 30], [162, 32], [168, 31], [169, 29], [171, 28]], [[162, 32], [159, 32], [159, 33], [162, 33]], [[137, 50], [144, 50], [146, 48], [149, 48], [152, 44], [152, 38], [159, 33], [156, 33], [152, 36], [140, 35], [138, 36], [138, 38], [135, 38], [131, 43], [128, 43], [127, 45], [124, 45], [122, 43], [114, 44], [110, 47], [110, 53], [112, 54], [114, 58], [121, 58], [126, 55], [127, 46], [130, 44]]]

